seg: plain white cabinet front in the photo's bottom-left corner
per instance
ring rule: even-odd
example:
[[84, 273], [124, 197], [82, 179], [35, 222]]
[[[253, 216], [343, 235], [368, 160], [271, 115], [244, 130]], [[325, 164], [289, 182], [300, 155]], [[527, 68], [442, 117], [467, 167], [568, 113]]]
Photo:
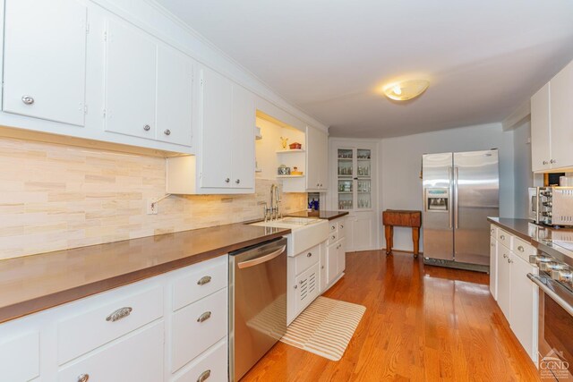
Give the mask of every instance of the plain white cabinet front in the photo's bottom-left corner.
[[39, 334], [20, 335], [0, 343], [0, 379], [28, 381], [39, 375]]

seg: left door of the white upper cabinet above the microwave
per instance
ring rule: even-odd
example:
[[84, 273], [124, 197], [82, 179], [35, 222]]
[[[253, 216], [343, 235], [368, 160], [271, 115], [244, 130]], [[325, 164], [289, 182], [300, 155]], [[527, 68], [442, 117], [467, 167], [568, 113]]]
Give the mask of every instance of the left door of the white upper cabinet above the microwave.
[[549, 82], [531, 98], [531, 169], [533, 171], [551, 168], [549, 119]]

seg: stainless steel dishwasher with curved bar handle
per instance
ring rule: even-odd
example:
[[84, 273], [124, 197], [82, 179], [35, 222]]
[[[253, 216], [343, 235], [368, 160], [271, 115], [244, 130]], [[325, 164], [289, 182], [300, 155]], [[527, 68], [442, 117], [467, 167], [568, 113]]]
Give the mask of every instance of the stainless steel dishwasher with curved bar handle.
[[286, 239], [229, 253], [229, 377], [238, 381], [286, 333]]

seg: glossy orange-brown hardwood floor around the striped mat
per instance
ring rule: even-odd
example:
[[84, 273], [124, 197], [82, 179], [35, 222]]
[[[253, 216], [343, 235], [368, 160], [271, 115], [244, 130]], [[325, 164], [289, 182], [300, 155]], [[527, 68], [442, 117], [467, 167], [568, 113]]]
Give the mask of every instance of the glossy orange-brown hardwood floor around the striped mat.
[[242, 381], [538, 381], [489, 292], [489, 276], [411, 254], [346, 254], [324, 295], [366, 307], [341, 361], [278, 343]]

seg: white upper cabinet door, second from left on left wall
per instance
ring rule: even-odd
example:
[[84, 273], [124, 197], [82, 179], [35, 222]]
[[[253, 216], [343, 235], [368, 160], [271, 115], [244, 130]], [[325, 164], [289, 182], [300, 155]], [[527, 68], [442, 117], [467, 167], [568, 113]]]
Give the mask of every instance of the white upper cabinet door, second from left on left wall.
[[107, 21], [106, 130], [155, 138], [157, 44], [127, 23]]

